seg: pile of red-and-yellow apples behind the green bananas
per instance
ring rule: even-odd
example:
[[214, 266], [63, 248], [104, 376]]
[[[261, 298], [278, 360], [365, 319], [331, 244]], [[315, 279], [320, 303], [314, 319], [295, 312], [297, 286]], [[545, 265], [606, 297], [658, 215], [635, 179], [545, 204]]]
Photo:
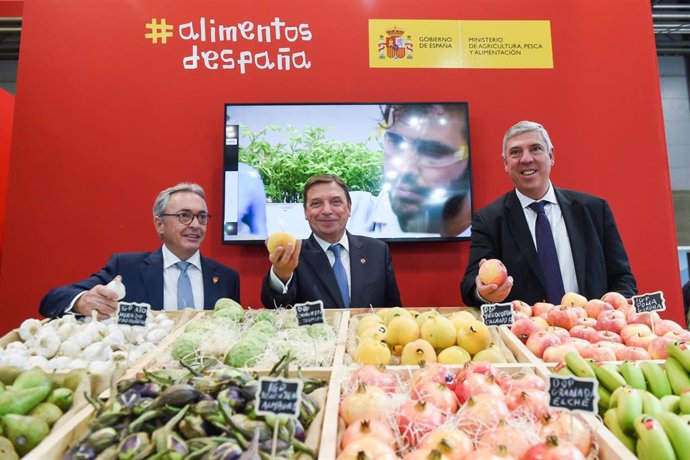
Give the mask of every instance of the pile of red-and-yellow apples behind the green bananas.
[[636, 313], [616, 292], [592, 300], [568, 292], [560, 305], [514, 301], [513, 306], [511, 330], [546, 362], [563, 361], [571, 351], [597, 361], [664, 359], [669, 343], [690, 340], [678, 323], [656, 312]]

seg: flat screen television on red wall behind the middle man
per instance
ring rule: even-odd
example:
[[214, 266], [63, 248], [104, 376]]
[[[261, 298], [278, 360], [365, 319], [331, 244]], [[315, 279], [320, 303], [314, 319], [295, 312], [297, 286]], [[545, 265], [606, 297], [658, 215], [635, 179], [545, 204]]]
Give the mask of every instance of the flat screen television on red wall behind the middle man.
[[223, 242], [310, 234], [302, 188], [315, 174], [350, 190], [351, 233], [386, 241], [468, 239], [466, 102], [225, 104]]

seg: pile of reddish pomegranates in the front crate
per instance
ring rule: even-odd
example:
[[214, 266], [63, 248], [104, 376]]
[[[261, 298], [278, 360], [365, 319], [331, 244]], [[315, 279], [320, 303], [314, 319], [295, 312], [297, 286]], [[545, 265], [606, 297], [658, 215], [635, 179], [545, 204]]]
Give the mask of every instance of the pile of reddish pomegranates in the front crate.
[[459, 372], [430, 364], [411, 375], [363, 366], [343, 385], [338, 459], [585, 459], [592, 433], [550, 412], [546, 383], [486, 362]]

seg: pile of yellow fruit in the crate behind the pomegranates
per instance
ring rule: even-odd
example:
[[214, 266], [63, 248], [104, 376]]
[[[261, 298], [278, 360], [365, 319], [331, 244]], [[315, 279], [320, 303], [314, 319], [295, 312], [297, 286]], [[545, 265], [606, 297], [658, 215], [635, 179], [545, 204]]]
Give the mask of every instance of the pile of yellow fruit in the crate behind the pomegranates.
[[489, 328], [466, 310], [446, 316], [394, 307], [354, 317], [350, 324], [348, 345], [359, 364], [506, 362]]

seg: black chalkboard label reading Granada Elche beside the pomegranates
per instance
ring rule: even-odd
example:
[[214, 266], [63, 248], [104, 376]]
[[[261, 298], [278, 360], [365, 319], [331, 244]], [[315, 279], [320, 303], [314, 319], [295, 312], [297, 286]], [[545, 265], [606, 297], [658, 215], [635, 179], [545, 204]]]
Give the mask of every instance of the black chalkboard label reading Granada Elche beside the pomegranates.
[[569, 411], [599, 411], [599, 392], [595, 379], [549, 376], [549, 407]]

